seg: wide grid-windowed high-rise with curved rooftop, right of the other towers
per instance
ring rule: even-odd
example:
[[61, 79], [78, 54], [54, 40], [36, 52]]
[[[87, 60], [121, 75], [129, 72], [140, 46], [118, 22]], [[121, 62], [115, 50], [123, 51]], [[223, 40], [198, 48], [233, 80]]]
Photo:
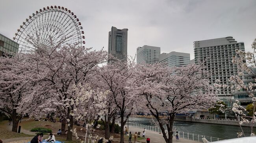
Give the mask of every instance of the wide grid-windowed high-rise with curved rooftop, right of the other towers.
[[[236, 49], [245, 51], [244, 43], [231, 37], [202, 40], [194, 42], [195, 63], [204, 62], [204, 70], [211, 73], [209, 83], [216, 83], [220, 80], [222, 84], [230, 85], [228, 78], [237, 75], [237, 66], [232, 63], [232, 57], [236, 56]], [[231, 89], [224, 90], [226, 94], [231, 95]], [[219, 96], [224, 96], [222, 91]]]

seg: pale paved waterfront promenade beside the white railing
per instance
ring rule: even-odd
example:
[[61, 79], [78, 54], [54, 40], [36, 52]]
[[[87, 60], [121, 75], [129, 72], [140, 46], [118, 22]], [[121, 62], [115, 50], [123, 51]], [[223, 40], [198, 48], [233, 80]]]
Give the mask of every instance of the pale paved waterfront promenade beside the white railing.
[[[129, 126], [129, 132], [132, 132], [132, 136], [134, 136], [135, 132], [143, 132], [143, 129]], [[141, 136], [142, 136], [142, 134], [141, 134]], [[145, 139], [139, 140], [139, 141], [147, 143], [146, 138], [150, 138], [150, 143], [165, 143], [163, 134], [159, 134], [158, 132], [153, 132], [153, 131], [147, 130]], [[173, 138], [173, 142], [174, 143], [199, 143], [198, 141], [192, 141], [192, 140], [183, 139], [183, 138], [179, 138], [179, 140], [176, 141], [175, 137]], [[128, 143], [128, 141], [125, 143]], [[132, 137], [132, 143], [134, 143], [133, 137]], [[140, 142], [137, 142], [137, 143], [140, 143]]]

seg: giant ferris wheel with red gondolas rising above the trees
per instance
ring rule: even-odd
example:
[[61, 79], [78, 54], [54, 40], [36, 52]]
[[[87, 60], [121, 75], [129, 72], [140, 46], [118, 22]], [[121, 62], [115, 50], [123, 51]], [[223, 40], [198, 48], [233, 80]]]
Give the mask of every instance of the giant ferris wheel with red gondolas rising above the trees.
[[85, 43], [81, 22], [64, 7], [50, 6], [39, 9], [17, 29], [13, 40], [19, 52], [33, 52], [39, 47], [82, 46]]

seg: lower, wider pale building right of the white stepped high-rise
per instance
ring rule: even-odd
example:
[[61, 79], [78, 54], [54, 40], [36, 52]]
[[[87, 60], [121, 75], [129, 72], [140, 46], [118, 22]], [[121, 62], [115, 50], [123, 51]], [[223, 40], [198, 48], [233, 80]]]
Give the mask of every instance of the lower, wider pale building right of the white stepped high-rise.
[[160, 54], [159, 62], [165, 62], [169, 67], [182, 67], [189, 65], [190, 54], [184, 52], [169, 52]]

